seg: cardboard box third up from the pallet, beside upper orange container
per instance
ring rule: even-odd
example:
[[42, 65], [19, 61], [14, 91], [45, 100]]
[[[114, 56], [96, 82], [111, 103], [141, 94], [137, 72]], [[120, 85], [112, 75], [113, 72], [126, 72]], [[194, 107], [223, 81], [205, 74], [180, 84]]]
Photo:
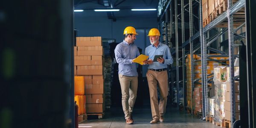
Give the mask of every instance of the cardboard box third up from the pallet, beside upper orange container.
[[85, 94], [103, 94], [103, 84], [88, 84], [85, 85]]

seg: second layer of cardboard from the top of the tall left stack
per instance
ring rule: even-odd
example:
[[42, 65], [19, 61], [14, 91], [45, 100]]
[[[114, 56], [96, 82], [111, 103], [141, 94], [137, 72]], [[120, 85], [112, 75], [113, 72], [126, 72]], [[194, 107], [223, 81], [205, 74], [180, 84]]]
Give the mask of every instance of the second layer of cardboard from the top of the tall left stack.
[[77, 55], [104, 55], [102, 46], [81, 46], [77, 47]]

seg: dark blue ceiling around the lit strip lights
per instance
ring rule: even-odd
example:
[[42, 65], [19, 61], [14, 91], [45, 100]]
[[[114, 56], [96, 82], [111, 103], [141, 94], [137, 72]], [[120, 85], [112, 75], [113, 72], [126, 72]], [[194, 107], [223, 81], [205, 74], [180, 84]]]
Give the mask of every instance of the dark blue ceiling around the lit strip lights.
[[[75, 9], [84, 9], [90, 17], [108, 16], [108, 19], [157, 18], [157, 11], [131, 11], [131, 9], [157, 9], [159, 0], [74, 0]], [[120, 9], [119, 12], [94, 12], [93, 9]]]

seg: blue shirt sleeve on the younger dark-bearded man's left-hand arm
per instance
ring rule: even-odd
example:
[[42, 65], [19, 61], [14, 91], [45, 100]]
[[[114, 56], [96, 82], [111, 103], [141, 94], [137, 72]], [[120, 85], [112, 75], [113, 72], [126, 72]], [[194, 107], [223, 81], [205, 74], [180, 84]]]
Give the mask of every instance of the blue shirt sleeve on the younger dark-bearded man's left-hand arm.
[[119, 45], [116, 46], [115, 56], [116, 56], [116, 62], [118, 64], [131, 64], [132, 63], [132, 59], [122, 58], [122, 47], [120, 47]]

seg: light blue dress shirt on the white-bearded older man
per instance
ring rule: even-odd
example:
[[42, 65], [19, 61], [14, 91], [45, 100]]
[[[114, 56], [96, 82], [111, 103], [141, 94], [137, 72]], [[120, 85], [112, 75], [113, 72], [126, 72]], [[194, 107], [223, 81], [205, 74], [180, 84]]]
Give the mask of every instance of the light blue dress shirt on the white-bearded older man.
[[157, 62], [153, 62], [153, 64], [148, 65], [148, 69], [163, 69], [167, 68], [167, 65], [173, 63], [172, 55], [170, 49], [167, 45], [159, 43], [157, 47], [153, 44], [149, 45], [145, 49], [145, 55], [148, 55], [151, 60], [154, 60], [155, 55], [163, 55], [164, 64]]

